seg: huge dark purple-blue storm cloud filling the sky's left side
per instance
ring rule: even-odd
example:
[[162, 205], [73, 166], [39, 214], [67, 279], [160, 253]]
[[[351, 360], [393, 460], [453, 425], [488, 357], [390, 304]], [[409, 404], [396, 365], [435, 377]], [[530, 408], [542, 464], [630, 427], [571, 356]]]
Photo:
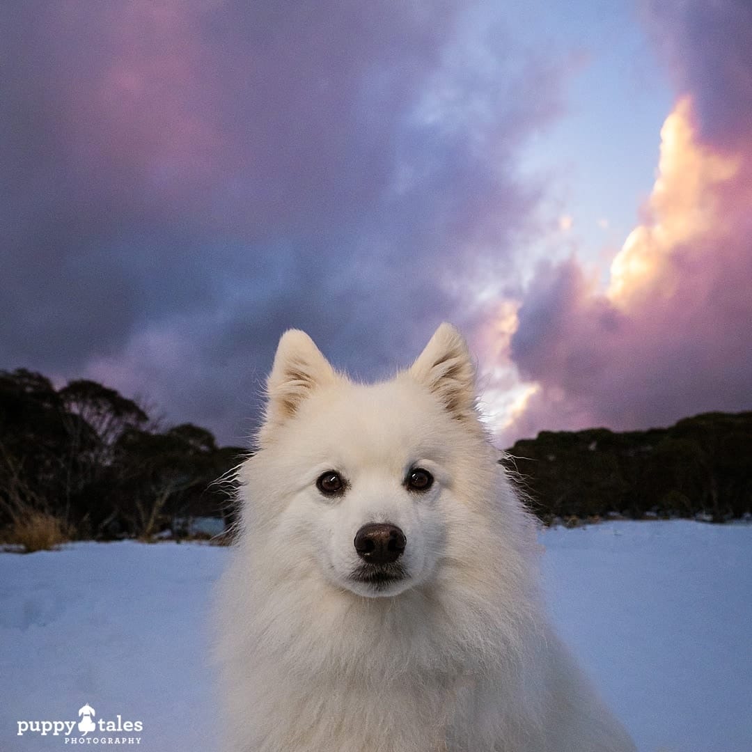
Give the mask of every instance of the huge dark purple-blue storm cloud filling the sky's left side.
[[[364, 374], [474, 315], [556, 61], [459, 2], [5, 4], [0, 365], [236, 439], [288, 326]], [[526, 92], [534, 92], [528, 96]]]

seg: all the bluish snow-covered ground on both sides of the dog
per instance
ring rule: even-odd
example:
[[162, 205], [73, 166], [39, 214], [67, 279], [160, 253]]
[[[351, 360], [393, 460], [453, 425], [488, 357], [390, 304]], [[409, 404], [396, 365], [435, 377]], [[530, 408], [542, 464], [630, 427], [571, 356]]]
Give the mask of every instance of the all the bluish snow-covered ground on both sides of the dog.
[[[614, 522], [541, 541], [554, 620], [639, 750], [750, 752], [752, 526]], [[18, 735], [18, 722], [85, 721], [88, 704], [92, 723], [121, 730], [87, 734], [86, 748], [140, 738], [128, 748], [212, 752], [208, 604], [227, 553], [124, 542], [0, 554], [0, 750], [73, 747], [78, 729], [66, 743]]]

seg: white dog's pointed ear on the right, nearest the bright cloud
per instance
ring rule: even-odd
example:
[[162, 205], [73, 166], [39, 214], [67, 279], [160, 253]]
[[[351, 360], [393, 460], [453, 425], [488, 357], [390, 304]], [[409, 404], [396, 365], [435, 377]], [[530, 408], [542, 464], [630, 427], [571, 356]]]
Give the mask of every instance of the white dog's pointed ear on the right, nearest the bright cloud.
[[475, 365], [465, 339], [451, 324], [443, 323], [436, 329], [409, 373], [455, 417], [477, 417]]

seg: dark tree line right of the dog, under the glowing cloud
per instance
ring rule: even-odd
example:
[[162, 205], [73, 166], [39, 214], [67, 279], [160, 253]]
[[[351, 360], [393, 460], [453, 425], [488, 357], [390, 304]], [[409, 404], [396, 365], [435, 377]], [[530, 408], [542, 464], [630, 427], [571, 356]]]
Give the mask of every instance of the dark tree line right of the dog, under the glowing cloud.
[[502, 462], [547, 522], [614, 512], [723, 522], [752, 511], [752, 412], [647, 431], [543, 431]]

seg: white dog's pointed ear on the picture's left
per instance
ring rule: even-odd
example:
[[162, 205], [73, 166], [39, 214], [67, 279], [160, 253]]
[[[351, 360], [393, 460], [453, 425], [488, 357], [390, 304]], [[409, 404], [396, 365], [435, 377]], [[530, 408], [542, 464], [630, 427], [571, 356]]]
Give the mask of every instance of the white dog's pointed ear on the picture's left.
[[274, 365], [266, 380], [266, 411], [259, 431], [259, 444], [298, 411], [317, 387], [332, 384], [337, 378], [334, 368], [321, 354], [314, 341], [300, 329], [288, 329], [280, 338]]

